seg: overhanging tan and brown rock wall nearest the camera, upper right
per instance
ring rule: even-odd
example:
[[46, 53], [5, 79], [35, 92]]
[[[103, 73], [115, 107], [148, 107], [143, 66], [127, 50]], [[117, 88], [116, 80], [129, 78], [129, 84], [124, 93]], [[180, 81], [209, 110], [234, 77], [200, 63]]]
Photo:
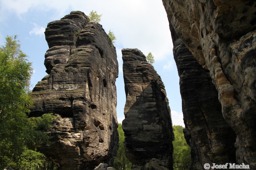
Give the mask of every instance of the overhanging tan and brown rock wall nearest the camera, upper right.
[[162, 1], [178, 37], [209, 70], [236, 133], [236, 163], [256, 169], [256, 1]]

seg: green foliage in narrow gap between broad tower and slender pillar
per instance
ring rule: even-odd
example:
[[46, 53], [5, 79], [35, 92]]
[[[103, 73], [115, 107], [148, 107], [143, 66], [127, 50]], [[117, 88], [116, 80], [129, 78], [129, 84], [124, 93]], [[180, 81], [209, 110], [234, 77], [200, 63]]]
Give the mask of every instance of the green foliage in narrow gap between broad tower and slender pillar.
[[119, 134], [119, 148], [117, 150], [117, 156], [115, 157], [113, 167], [117, 170], [129, 170], [132, 167], [132, 163], [126, 158], [124, 153], [124, 131], [122, 129], [122, 124], [118, 124], [118, 134]]

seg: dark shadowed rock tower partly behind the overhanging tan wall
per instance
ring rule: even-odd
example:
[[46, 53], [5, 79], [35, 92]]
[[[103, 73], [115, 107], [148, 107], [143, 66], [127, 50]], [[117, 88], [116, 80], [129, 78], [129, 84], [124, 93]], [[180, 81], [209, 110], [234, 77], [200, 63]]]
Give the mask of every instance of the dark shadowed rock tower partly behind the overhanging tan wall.
[[170, 25], [173, 56], [180, 77], [184, 136], [191, 147], [191, 169], [205, 163], [235, 163], [236, 134], [225, 121], [218, 92], [204, 69]]

